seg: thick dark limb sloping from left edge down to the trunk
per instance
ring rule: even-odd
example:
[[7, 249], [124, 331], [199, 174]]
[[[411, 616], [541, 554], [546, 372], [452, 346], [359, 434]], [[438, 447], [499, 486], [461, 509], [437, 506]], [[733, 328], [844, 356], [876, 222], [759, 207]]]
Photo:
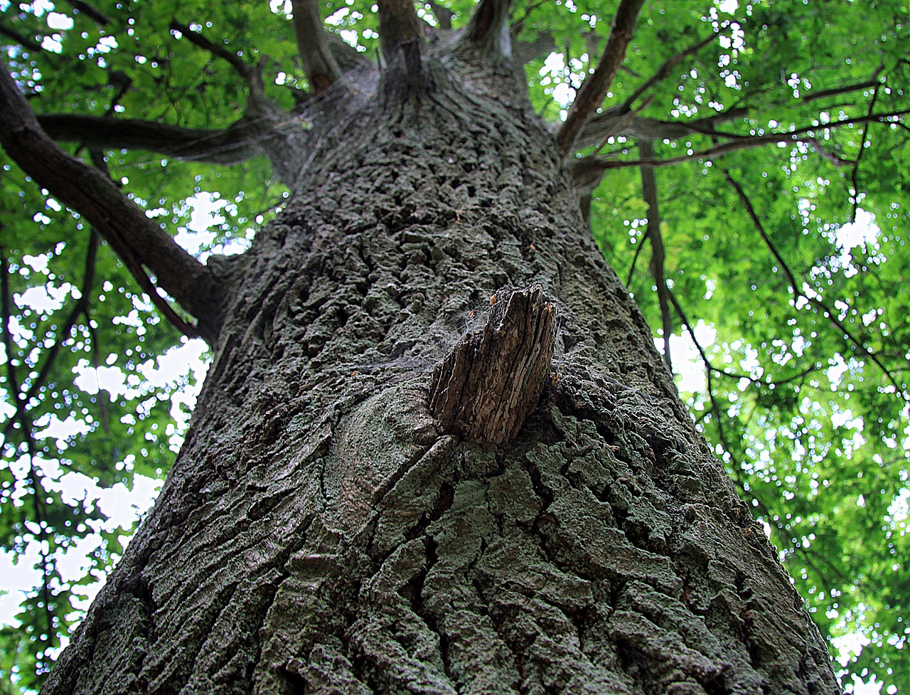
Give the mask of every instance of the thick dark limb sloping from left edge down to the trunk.
[[115, 250], [153, 271], [160, 287], [198, 319], [199, 334], [214, 341], [225, 296], [212, 272], [104, 174], [58, 148], [39, 126], [5, 66], [0, 66], [0, 143], [28, 176], [78, 210]]

